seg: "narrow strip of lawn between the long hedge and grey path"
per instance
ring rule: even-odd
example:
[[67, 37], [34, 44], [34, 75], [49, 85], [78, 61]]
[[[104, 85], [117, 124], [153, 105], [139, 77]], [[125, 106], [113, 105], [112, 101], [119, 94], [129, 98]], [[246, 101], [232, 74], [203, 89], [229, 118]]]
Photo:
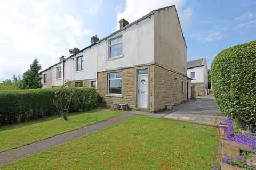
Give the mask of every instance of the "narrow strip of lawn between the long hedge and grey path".
[[53, 116], [26, 123], [0, 126], [0, 152], [121, 114], [122, 112], [107, 109], [93, 109], [87, 112], [69, 114], [68, 121], [63, 120], [60, 116]]

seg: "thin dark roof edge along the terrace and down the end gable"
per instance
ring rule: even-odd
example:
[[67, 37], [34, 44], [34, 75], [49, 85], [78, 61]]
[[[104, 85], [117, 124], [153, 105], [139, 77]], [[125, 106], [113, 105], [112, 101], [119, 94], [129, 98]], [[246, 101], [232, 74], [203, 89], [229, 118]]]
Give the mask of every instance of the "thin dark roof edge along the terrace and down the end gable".
[[[121, 29], [119, 29], [119, 30], [117, 30], [117, 31], [115, 31], [115, 32], [113, 32], [113, 33], [111, 33], [111, 34], [108, 35], [107, 37], [100, 39], [100, 40], [97, 41], [96, 43], [85, 47], [84, 49], [80, 50], [78, 53], [83, 52], [83, 51], [86, 50], [87, 48], [91, 48], [92, 46], [94, 46], [94, 45], [96, 45], [96, 44], [99, 44], [101, 41], [106, 40], [107, 38], [109, 38], [109, 37], [115, 35], [115, 34], [118, 33], [118, 32], [121, 32], [121, 31], [123, 31], [123, 30], [126, 30], [126, 28], [129, 28], [129, 27], [131, 27], [132, 25], [137, 24], [139, 21], [142, 21], [142, 20], [144, 20], [144, 19], [146, 19], [146, 18], [148, 18], [148, 17], [150, 18], [151, 15], [154, 15], [154, 14], [155, 14], [155, 11], [163, 10], [163, 9], [169, 8], [169, 7], [174, 7], [174, 9], [175, 9], [175, 11], [176, 11], [176, 13], [177, 13], [177, 10], [176, 10], [175, 5], [166, 6], [166, 7], [163, 7], [163, 8], [158, 8], [158, 9], [156, 9], [156, 10], [153, 10], [153, 11], [151, 11], [150, 13], [148, 13], [147, 15], [142, 16], [140, 19], [138, 19], [138, 20], [136, 20], [136, 21], [134, 21], [134, 22], [132, 22], [132, 23], [126, 25], [125, 27], [123, 27], [123, 28], [121, 28]], [[177, 13], [177, 15], [178, 15], [178, 13]], [[179, 19], [179, 18], [178, 18], [178, 19]], [[179, 21], [179, 24], [180, 24], [180, 21]], [[181, 28], [181, 25], [180, 25], [180, 28]], [[181, 29], [181, 32], [182, 32], [182, 29]], [[185, 42], [185, 45], [186, 45], [186, 47], [187, 47], [187, 44], [186, 44], [186, 41], [185, 41], [183, 32], [182, 32], [182, 36], [183, 36], [183, 40], [184, 40], [184, 42]], [[78, 53], [76, 53], [76, 54], [78, 54]], [[76, 56], [76, 54], [70, 55], [69, 57], [65, 58], [65, 59], [62, 60], [61, 62], [58, 62], [58, 63], [56, 63], [56, 64], [54, 64], [54, 65], [48, 67], [47, 69], [41, 71], [41, 73], [42, 73], [42, 72], [45, 72], [45, 71], [47, 71], [47, 70], [49, 70], [49, 69], [51, 69], [52, 67], [54, 67], [54, 66], [56, 66], [56, 65], [58, 65], [58, 64], [60, 64], [60, 63], [62, 63], [62, 62], [65, 62], [66, 60], [68, 60], [68, 58], [71, 58], [71, 57], [73, 57], [73, 56]]]

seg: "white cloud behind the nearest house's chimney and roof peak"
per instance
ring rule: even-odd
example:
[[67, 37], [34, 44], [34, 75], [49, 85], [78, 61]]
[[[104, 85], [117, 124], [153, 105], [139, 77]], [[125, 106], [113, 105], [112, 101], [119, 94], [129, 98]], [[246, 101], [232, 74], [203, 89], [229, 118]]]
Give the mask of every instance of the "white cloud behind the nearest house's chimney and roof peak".
[[116, 8], [118, 12], [116, 16], [117, 24], [115, 29], [119, 29], [118, 21], [122, 18], [126, 19], [127, 21], [129, 21], [129, 23], [131, 23], [157, 8], [175, 5], [179, 14], [182, 29], [186, 30], [191, 23], [191, 18], [193, 15], [193, 10], [191, 8], [186, 8], [184, 10], [182, 9], [186, 2], [186, 0], [126, 0], [124, 11], [120, 11], [120, 6]]

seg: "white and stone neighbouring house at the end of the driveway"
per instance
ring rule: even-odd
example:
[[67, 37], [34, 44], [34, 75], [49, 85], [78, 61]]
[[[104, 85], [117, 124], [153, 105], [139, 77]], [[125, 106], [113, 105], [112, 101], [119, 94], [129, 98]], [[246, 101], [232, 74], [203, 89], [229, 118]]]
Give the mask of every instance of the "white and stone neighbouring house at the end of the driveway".
[[187, 76], [191, 80], [192, 97], [208, 95], [208, 69], [206, 58], [187, 62]]

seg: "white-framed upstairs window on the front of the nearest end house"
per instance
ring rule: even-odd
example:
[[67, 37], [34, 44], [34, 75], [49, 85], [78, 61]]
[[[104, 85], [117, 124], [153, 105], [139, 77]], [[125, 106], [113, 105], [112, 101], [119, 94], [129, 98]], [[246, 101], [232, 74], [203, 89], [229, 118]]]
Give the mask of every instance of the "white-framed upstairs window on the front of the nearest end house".
[[123, 37], [109, 40], [109, 58], [123, 55]]

